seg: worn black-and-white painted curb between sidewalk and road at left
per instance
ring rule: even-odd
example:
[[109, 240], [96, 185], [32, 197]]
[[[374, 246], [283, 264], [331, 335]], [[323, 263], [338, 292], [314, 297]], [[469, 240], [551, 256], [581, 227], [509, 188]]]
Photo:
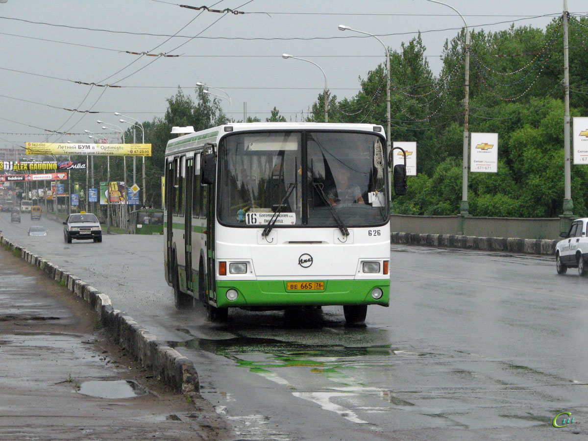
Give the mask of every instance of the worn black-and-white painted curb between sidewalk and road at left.
[[158, 340], [131, 316], [114, 309], [108, 295], [53, 263], [34, 255], [22, 246], [9, 242], [2, 235], [0, 235], [0, 243], [25, 262], [42, 270], [55, 282], [66, 286], [72, 294], [88, 302], [89, 306], [98, 313], [101, 325], [106, 329], [109, 338], [135, 356], [153, 376], [186, 395], [200, 392], [198, 372], [191, 360], [170, 348], [165, 342]]

